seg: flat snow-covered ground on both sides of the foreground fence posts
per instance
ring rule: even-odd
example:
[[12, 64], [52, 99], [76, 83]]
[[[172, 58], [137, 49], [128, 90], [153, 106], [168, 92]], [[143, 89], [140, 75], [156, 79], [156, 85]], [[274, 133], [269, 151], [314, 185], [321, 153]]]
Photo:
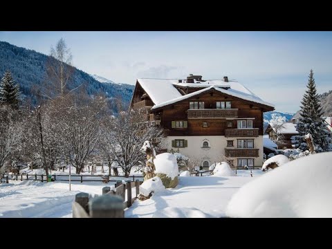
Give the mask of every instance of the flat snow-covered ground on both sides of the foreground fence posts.
[[[181, 208], [182, 216], [223, 216], [232, 194], [261, 174], [265, 173], [255, 169], [254, 177], [250, 177], [250, 170], [238, 170], [238, 176], [232, 177], [180, 177], [180, 183], [174, 190], [165, 190], [163, 196], [156, 195], [144, 202], [135, 201], [125, 216], [152, 217], [154, 212], [167, 207], [163, 212], [166, 216], [178, 215], [180, 211], [177, 208]], [[71, 217], [75, 194], [100, 195], [102, 187], [113, 184], [74, 182], [69, 191], [68, 182], [9, 182], [0, 184], [0, 217]], [[195, 209], [198, 211], [194, 212]], [[174, 210], [177, 210], [176, 214]]]

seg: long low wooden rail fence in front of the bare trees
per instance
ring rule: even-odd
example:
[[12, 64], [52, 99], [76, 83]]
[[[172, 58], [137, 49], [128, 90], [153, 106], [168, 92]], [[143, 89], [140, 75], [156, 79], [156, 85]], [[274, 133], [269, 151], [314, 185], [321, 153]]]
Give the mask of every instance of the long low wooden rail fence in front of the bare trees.
[[[69, 175], [56, 175], [53, 174], [52, 176], [52, 181], [69, 181]], [[95, 179], [91, 179], [95, 178]], [[133, 181], [136, 179], [142, 179], [143, 176], [98, 176], [98, 175], [71, 175], [71, 181], [78, 181], [78, 182], [93, 182], [93, 181], [98, 181], [98, 182], [103, 182], [103, 183], [108, 183], [109, 181], [116, 182], [118, 181], [117, 178], [132, 178]], [[46, 174], [2, 174], [0, 177], [1, 181], [6, 181], [8, 183], [8, 180], [33, 180], [33, 181], [47, 181]], [[1, 182], [0, 181], [0, 182]]]

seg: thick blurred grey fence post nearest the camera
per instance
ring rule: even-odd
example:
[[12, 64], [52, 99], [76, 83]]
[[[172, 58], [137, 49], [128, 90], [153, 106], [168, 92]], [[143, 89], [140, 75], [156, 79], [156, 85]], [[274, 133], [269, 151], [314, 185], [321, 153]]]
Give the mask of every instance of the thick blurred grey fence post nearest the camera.
[[91, 218], [124, 218], [123, 199], [120, 196], [105, 194], [89, 201]]

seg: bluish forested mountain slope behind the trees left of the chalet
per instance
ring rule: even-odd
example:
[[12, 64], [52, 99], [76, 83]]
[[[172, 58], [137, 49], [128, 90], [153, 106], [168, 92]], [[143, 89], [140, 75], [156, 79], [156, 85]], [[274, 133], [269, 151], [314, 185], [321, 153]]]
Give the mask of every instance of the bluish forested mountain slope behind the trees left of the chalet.
[[[40, 85], [46, 77], [46, 61], [48, 55], [38, 53], [35, 50], [20, 48], [0, 42], [0, 76], [9, 70], [15, 81], [19, 84], [19, 89], [26, 100], [30, 99], [33, 104], [37, 104], [37, 98], [33, 94], [34, 85]], [[100, 77], [107, 82], [100, 82], [84, 71], [74, 68], [69, 89], [84, 84], [84, 91], [89, 95], [105, 94], [108, 98], [120, 98], [125, 104], [129, 104], [133, 94], [133, 85], [116, 84], [111, 80]]]

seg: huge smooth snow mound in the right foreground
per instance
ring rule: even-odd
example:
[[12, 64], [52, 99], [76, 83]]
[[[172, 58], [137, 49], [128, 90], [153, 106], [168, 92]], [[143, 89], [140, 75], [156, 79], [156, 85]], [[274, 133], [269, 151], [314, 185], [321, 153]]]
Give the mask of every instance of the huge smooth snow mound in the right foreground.
[[232, 217], [332, 217], [332, 152], [277, 167], [232, 196]]

